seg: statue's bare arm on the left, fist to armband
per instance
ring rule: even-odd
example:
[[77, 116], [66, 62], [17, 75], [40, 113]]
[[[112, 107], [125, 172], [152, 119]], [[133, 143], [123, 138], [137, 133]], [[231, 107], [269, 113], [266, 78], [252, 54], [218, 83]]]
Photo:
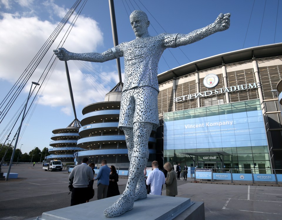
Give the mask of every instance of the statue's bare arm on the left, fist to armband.
[[72, 53], [64, 48], [58, 48], [57, 50], [53, 50], [53, 52], [59, 58], [59, 60], [62, 61], [83, 60], [102, 63], [108, 60], [116, 59], [116, 56], [113, 53], [112, 49], [108, 49], [103, 53]]

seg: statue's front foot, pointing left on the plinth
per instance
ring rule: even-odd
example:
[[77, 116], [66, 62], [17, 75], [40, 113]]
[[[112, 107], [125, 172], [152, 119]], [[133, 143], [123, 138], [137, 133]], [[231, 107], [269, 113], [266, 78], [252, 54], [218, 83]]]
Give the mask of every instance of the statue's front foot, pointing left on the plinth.
[[120, 198], [109, 208], [105, 209], [104, 215], [106, 217], [117, 217], [124, 214], [127, 211], [133, 209], [134, 200], [133, 196], [128, 195], [128, 191], [124, 192]]

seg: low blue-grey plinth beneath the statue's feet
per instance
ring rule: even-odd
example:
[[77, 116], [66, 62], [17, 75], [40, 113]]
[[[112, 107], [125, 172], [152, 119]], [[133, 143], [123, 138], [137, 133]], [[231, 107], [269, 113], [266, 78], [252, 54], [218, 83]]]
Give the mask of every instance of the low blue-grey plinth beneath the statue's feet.
[[[85, 220], [85, 219], [107, 219], [104, 216], [104, 210], [111, 206], [119, 196], [88, 202], [76, 206], [70, 206], [63, 209], [44, 212], [41, 220]], [[189, 217], [190, 216], [190, 217]], [[115, 217], [122, 220], [204, 220], [204, 203], [191, 202], [189, 198], [155, 196], [148, 195], [147, 199], [135, 201], [131, 211]]]

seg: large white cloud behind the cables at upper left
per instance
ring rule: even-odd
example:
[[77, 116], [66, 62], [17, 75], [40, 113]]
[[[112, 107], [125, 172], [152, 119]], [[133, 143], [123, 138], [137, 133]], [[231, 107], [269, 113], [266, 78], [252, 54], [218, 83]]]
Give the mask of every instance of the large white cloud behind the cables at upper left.
[[[1, 1], [2, 4], [8, 1]], [[31, 6], [32, 1], [19, 1], [22, 6]], [[53, 9], [54, 13], [61, 12], [65, 15], [66, 9], [49, 2], [49, 9]], [[47, 7], [47, 5], [46, 5]], [[32, 9], [31, 9], [32, 10]], [[46, 9], [47, 10], [47, 9]], [[60, 16], [62, 16], [62, 14]], [[44, 42], [48, 39], [58, 24], [50, 21], [41, 21], [36, 16], [24, 17], [22, 14], [1, 13], [3, 18], [0, 20], [0, 60], [1, 71], [0, 81], [16, 82], [20, 75], [24, 72], [32, 58], [39, 51]], [[58, 39], [62, 38], [62, 34]], [[59, 45], [59, 40], [55, 41], [37, 70], [33, 73], [31, 81], [37, 82], [39, 76], [45, 69], [47, 62], [53, 55], [53, 49]], [[68, 36], [64, 47], [73, 52], [92, 52], [96, 51], [99, 46], [103, 45], [103, 33], [98, 23], [88, 17], [80, 15], [70, 35]], [[73, 61], [68, 62], [70, 78], [72, 82], [73, 95], [75, 105], [88, 105], [95, 101], [102, 101], [102, 92], [107, 93], [111, 88], [101, 88], [103, 91], [97, 91], [88, 79], [78, 70]], [[94, 67], [100, 68], [100, 66]], [[117, 81], [116, 72], [103, 72], [102, 75], [107, 76], [113, 81]], [[104, 81], [107, 81], [104, 79]], [[94, 82], [95, 83], [95, 82]], [[98, 83], [98, 82], [96, 82]], [[30, 84], [27, 84], [25, 91], [28, 92]], [[66, 114], [72, 112], [68, 84], [66, 80], [66, 72], [64, 63], [58, 61], [57, 66], [46, 85], [42, 97], [39, 101], [41, 105], [49, 105], [52, 107], [61, 106], [62, 111]]]

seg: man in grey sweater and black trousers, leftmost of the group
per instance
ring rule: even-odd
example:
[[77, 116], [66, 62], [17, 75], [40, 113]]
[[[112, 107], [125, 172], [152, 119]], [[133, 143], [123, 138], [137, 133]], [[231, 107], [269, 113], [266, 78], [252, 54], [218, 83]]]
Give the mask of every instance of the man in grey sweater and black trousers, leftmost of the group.
[[88, 165], [88, 158], [82, 159], [82, 163], [75, 166], [68, 176], [69, 179], [73, 178], [73, 189], [71, 191], [70, 206], [85, 203], [88, 200], [88, 185], [89, 181], [93, 180], [93, 170]]

